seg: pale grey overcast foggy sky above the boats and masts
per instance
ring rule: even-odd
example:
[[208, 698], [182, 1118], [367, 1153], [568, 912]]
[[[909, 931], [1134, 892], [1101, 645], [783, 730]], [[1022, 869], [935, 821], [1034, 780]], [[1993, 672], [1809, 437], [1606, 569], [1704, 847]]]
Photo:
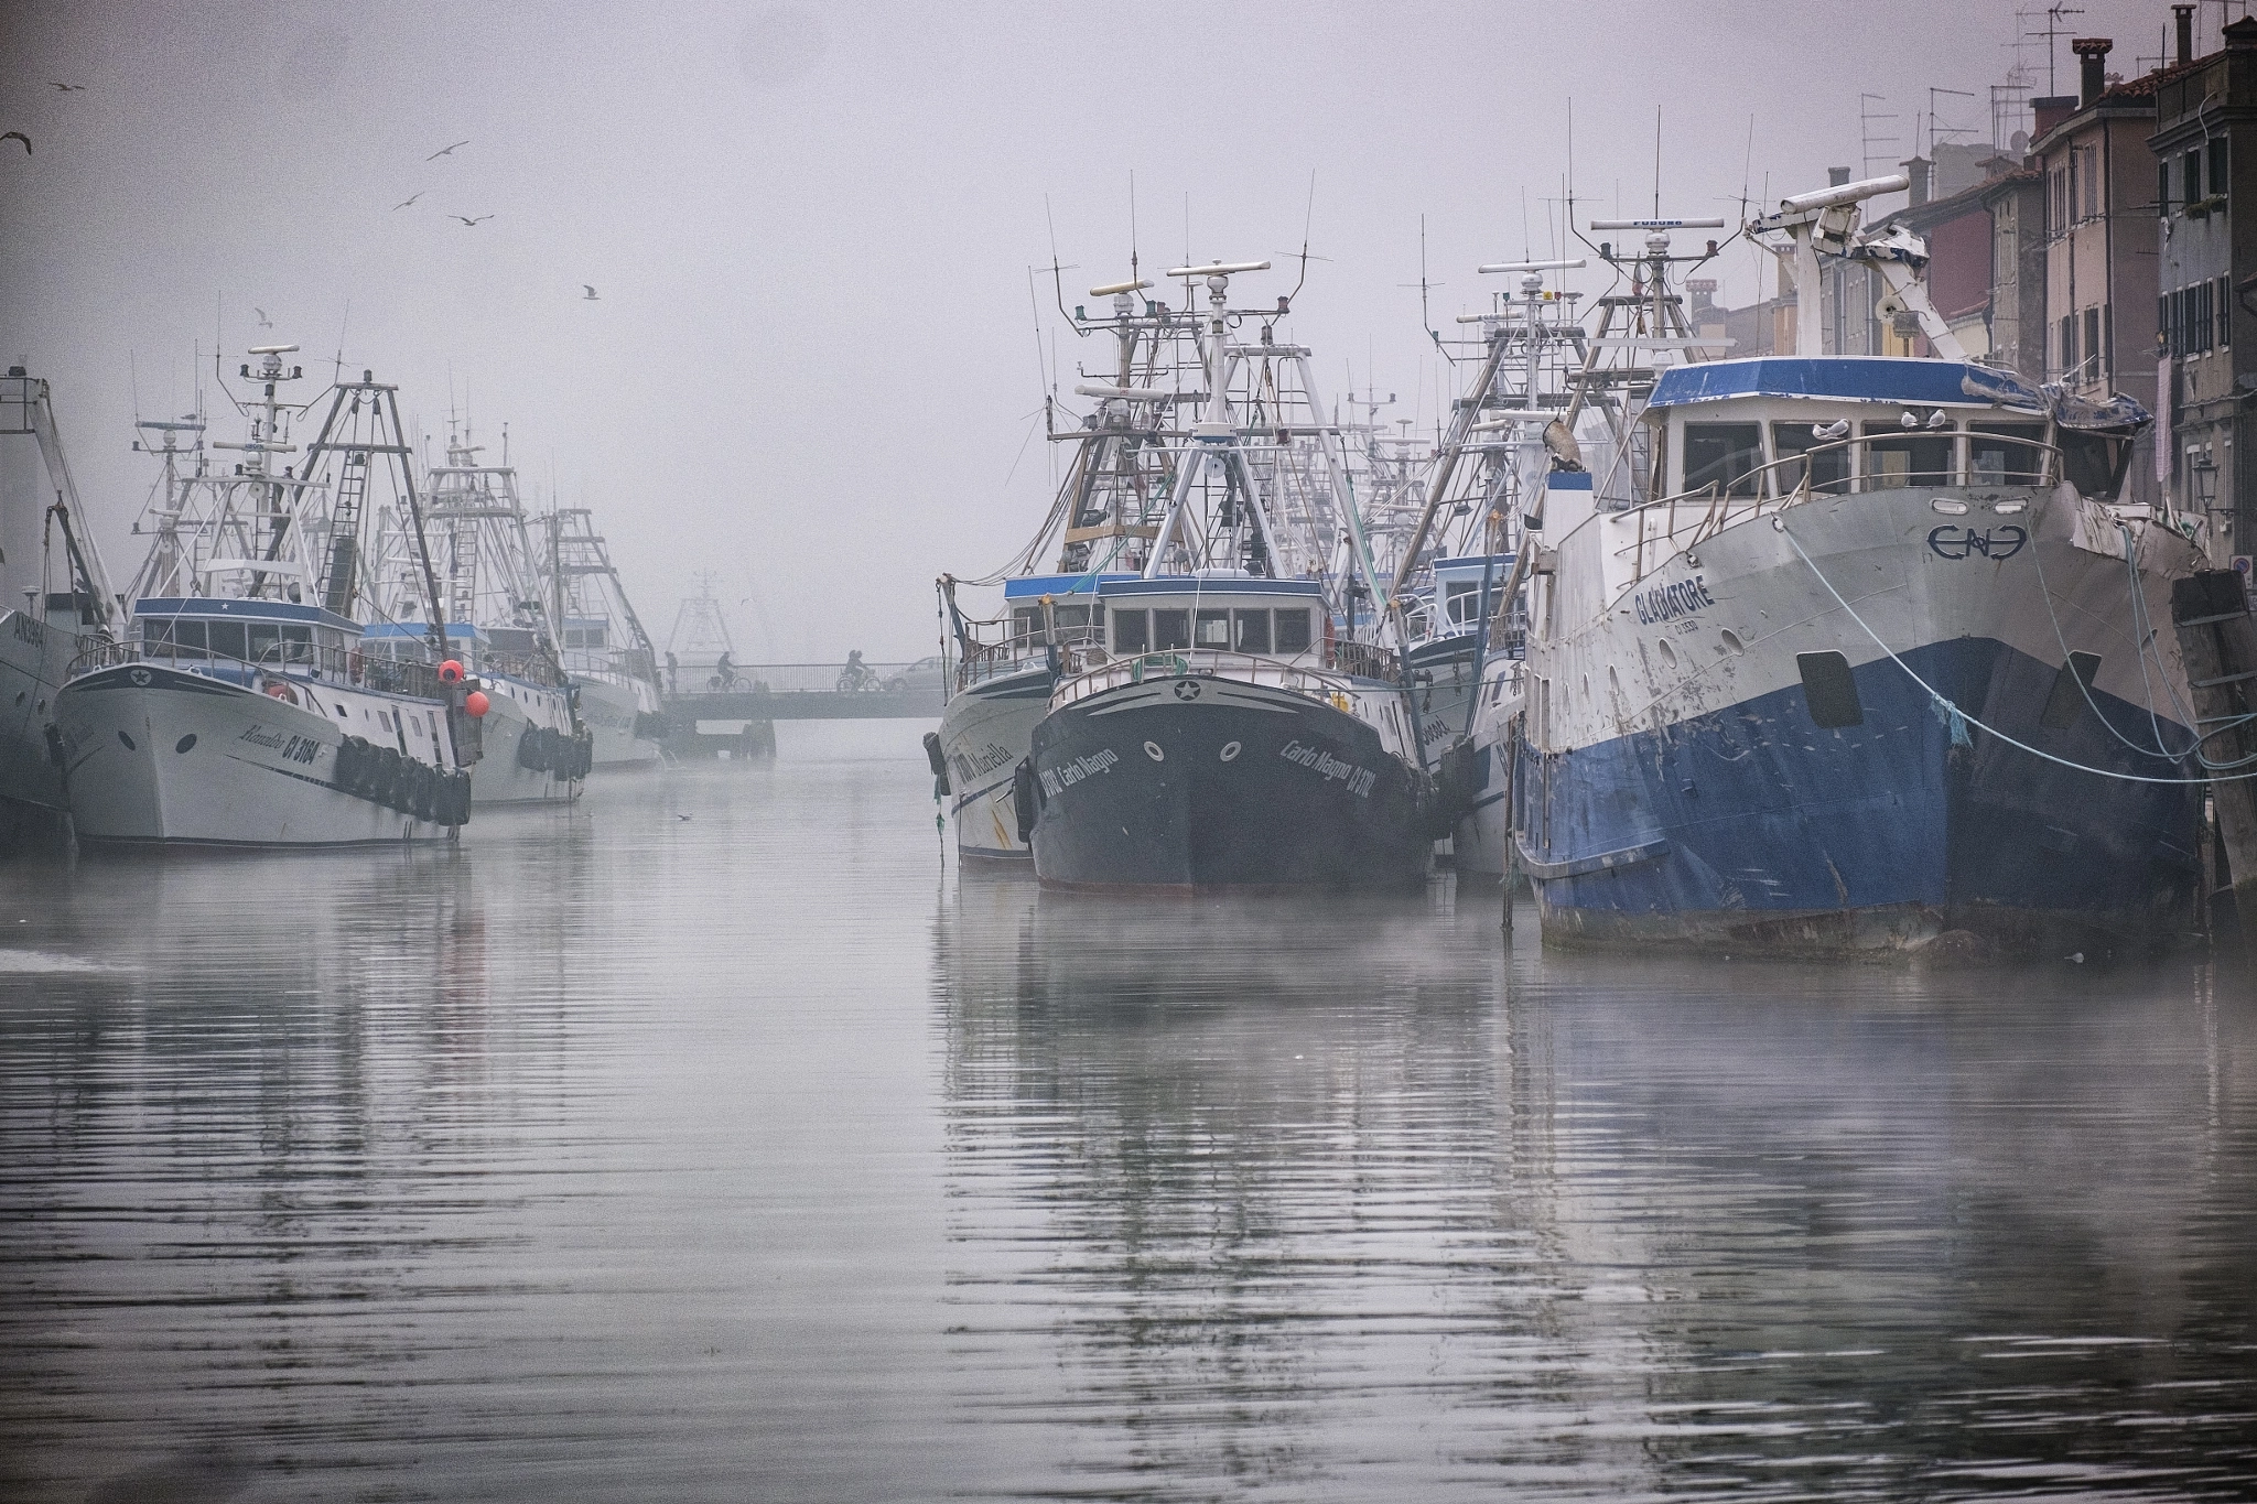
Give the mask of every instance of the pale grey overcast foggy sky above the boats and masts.
[[[1435, 318], [1485, 307], [1478, 262], [1553, 248], [1571, 101], [1584, 216], [1652, 207], [1657, 108], [1663, 212], [1738, 216], [1858, 165], [1862, 92], [1898, 115], [1878, 160], [1930, 88], [1975, 95], [1934, 95], [1948, 140], [1988, 140], [2045, 25], [2025, 5], [0, 0], [0, 131], [34, 140], [0, 142], [0, 359], [54, 383], [120, 586], [135, 401], [185, 410], [214, 338], [228, 370], [298, 340], [309, 374], [343, 350], [397, 381], [424, 433], [449, 404], [481, 440], [508, 422], [542, 505], [596, 507], [661, 649], [711, 570], [740, 658], [914, 656], [932, 577], [995, 568], [1047, 505], [1052, 361], [1070, 392], [1101, 354], [1027, 268], [1054, 225], [1068, 304], [1124, 277], [1131, 176], [1147, 271], [1271, 257], [1266, 300], [1307, 221], [1291, 336], [1431, 428], [1422, 219]], [[2122, 72], [2169, 20], [2083, 9]], [[2022, 56], [2043, 92], [2045, 43]], [[1718, 271], [1756, 295], [1754, 253]]]

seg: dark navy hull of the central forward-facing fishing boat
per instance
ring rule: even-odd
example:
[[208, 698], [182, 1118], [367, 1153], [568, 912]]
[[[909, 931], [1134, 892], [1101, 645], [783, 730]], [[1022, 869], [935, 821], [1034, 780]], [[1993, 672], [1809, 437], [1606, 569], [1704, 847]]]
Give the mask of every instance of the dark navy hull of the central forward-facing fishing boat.
[[1158, 679], [1034, 728], [1034, 870], [1070, 888], [1390, 888], [1424, 882], [1424, 776], [1320, 699]]

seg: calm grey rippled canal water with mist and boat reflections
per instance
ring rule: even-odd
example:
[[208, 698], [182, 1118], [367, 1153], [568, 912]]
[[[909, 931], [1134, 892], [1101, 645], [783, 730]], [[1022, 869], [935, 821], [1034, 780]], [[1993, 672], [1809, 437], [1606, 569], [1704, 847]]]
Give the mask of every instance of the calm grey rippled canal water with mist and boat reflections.
[[943, 870], [910, 726], [0, 870], [0, 1497], [2250, 1497], [2257, 1006]]

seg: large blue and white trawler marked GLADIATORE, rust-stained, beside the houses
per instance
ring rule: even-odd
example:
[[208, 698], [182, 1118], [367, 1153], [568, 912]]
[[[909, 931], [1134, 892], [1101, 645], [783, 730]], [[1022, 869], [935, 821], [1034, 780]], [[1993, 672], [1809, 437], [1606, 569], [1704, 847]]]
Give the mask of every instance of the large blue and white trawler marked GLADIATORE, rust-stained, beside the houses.
[[[1801, 354], [1666, 370], [1643, 498], [1548, 478], [1514, 769], [1546, 940], [2065, 954], [2187, 927], [2169, 593], [2198, 525], [2122, 503], [2135, 404], [1964, 359], [1918, 241], [1855, 232], [1889, 185], [1751, 225], [1792, 241]], [[1939, 356], [1821, 354], [1819, 250], [1880, 266]]]

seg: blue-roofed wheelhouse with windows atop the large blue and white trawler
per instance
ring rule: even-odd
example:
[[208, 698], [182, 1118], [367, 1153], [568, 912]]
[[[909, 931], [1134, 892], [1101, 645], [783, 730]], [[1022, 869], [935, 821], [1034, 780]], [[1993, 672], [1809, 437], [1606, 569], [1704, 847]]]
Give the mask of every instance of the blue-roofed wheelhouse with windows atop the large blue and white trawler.
[[1650, 498], [2054, 485], [2115, 501], [2146, 413], [2076, 404], [2011, 372], [1905, 356], [1756, 356], [1661, 374], [1645, 406]]

